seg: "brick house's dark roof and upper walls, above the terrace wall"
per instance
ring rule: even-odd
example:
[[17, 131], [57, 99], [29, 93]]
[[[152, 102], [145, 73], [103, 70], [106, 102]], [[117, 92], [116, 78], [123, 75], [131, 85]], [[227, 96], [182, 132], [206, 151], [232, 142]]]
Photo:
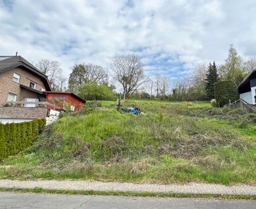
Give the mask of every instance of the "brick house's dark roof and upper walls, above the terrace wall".
[[[0, 56], [0, 105], [6, 102], [43, 102], [51, 91], [47, 76], [21, 56]], [[31, 107], [28, 104], [28, 107]]]

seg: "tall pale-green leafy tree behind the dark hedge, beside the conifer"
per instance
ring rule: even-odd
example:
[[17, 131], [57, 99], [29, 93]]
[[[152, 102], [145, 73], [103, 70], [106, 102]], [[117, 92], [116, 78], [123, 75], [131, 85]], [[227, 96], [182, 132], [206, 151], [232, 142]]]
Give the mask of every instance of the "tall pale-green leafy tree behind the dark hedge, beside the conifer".
[[243, 81], [245, 77], [244, 62], [242, 57], [238, 55], [234, 45], [230, 45], [228, 58], [226, 58], [225, 64], [219, 68], [219, 73], [223, 81], [232, 80], [236, 86]]

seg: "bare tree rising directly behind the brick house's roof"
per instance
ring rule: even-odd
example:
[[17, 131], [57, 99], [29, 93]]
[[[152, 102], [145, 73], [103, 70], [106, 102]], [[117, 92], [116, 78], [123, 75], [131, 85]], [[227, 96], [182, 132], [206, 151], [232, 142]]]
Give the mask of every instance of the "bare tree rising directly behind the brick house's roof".
[[66, 78], [62, 75], [63, 71], [60, 68], [58, 61], [41, 59], [35, 66], [45, 75], [47, 75], [53, 90], [64, 90], [66, 86]]

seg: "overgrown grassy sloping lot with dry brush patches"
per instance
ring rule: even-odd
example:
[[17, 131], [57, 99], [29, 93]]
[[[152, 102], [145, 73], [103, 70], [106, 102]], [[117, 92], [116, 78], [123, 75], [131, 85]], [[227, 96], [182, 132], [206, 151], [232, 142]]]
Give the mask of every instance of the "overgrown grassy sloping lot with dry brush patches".
[[[1, 162], [0, 178], [256, 183], [256, 114], [209, 102], [100, 102], [64, 115], [33, 146]], [[3, 166], [12, 165], [12, 166]]]

